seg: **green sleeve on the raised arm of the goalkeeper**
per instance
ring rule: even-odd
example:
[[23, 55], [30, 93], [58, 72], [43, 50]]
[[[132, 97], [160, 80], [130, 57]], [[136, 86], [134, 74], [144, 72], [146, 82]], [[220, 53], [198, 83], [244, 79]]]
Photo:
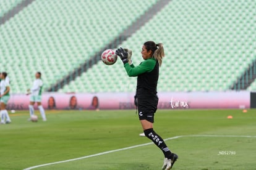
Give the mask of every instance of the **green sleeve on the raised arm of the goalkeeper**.
[[148, 59], [148, 60], [144, 60], [137, 67], [135, 67], [133, 64], [129, 65], [129, 63], [126, 63], [124, 65], [124, 68], [126, 68], [126, 72], [128, 76], [135, 77], [143, 73], [152, 71], [155, 65], [156, 65], [156, 60]]

